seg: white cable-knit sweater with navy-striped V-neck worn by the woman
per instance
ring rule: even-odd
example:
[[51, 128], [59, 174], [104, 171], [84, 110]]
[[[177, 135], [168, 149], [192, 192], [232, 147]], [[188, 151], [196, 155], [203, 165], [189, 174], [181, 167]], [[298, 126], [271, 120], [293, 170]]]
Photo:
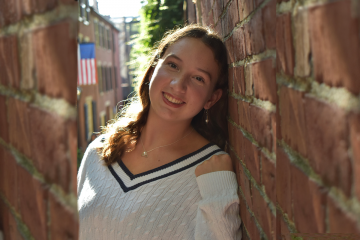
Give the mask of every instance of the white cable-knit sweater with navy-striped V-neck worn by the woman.
[[121, 161], [100, 162], [102, 137], [89, 145], [78, 172], [80, 239], [241, 239], [235, 173], [195, 176], [197, 165], [225, 153], [218, 146], [133, 175]]

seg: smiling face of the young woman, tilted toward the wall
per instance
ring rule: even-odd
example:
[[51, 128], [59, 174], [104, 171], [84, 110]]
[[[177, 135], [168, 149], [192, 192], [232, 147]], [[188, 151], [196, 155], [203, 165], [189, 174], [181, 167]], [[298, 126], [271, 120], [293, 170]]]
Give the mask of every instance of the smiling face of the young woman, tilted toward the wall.
[[213, 91], [220, 68], [212, 50], [196, 38], [172, 44], [150, 75], [150, 111], [172, 121], [190, 120], [221, 97]]

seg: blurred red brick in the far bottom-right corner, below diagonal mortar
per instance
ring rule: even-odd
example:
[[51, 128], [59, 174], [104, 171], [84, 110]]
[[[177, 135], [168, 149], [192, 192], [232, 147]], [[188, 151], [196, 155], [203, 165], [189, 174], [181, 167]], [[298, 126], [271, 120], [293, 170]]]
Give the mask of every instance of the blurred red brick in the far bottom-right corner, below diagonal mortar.
[[346, 212], [330, 197], [327, 198], [330, 233], [353, 233], [360, 235], [356, 219], [351, 212]]

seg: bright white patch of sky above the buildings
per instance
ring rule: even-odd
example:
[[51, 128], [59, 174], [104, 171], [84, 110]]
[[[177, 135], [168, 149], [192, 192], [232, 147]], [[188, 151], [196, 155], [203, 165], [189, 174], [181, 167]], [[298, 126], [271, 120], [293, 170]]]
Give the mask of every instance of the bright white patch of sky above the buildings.
[[[93, 2], [94, 0], [89, 0], [90, 6]], [[111, 18], [137, 17], [141, 0], [98, 0], [98, 6], [101, 15], [110, 15]]]

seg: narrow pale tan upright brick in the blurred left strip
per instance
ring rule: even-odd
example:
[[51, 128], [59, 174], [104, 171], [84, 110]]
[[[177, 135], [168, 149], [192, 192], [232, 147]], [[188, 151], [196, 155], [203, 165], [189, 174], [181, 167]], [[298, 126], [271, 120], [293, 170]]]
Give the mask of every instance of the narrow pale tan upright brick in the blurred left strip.
[[20, 87], [24, 90], [33, 90], [36, 86], [34, 52], [33, 48], [29, 46], [32, 46], [32, 35], [30, 33], [24, 34], [20, 38]]

